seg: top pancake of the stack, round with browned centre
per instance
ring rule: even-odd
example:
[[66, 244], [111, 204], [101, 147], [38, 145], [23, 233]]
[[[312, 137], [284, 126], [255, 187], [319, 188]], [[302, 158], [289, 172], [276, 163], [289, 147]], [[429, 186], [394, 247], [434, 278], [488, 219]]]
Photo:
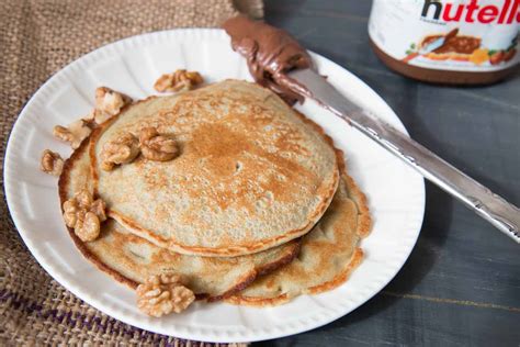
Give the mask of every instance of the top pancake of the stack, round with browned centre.
[[[180, 156], [165, 163], [139, 156], [101, 170], [105, 143], [146, 126], [172, 134]], [[91, 144], [94, 186], [109, 215], [188, 255], [247, 255], [296, 238], [324, 214], [339, 180], [321, 128], [245, 81], [133, 104], [99, 128]]]

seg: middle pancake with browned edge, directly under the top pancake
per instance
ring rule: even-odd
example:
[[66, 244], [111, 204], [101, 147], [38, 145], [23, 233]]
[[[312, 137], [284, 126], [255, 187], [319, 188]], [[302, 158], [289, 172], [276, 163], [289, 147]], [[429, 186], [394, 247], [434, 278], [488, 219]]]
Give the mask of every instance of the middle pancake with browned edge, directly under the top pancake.
[[[65, 164], [59, 178], [61, 204], [81, 189], [92, 191], [87, 148], [88, 141]], [[199, 299], [208, 301], [221, 300], [242, 290], [258, 276], [289, 264], [299, 249], [299, 239], [296, 239], [240, 257], [185, 256], [128, 233], [113, 220], [102, 224], [100, 237], [93, 242], [80, 240], [70, 228], [69, 234], [86, 258], [131, 288], [135, 289], [150, 275], [173, 272], [184, 278], [185, 286]]]

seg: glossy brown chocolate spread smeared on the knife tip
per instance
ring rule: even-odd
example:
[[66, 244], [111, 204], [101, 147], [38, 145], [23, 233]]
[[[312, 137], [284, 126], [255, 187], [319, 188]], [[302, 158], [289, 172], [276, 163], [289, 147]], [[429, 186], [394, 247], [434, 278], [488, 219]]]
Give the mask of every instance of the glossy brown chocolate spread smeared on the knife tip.
[[246, 59], [255, 80], [279, 94], [287, 103], [302, 97], [283, 87], [285, 72], [313, 66], [307, 51], [283, 30], [253, 21], [245, 15], [227, 20], [223, 29], [231, 37], [231, 47]]

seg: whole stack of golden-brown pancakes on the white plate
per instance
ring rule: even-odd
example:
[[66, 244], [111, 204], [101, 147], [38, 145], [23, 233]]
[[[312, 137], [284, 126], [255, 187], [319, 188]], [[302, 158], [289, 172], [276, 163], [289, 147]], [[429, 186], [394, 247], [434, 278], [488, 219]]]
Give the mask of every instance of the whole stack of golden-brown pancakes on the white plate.
[[[154, 127], [174, 138], [166, 160], [105, 168], [103, 150]], [[84, 257], [137, 288], [177, 275], [197, 299], [273, 305], [344, 282], [371, 220], [343, 155], [323, 130], [256, 83], [226, 80], [122, 110], [74, 152], [61, 204], [88, 190], [106, 204]]]

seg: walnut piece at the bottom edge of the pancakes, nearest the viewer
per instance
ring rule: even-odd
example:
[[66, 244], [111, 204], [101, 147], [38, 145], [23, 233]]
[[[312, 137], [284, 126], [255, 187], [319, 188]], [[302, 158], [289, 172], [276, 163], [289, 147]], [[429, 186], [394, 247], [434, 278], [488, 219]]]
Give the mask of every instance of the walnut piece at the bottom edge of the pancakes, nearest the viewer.
[[194, 300], [195, 294], [176, 275], [150, 276], [137, 287], [137, 307], [154, 317], [180, 313]]

